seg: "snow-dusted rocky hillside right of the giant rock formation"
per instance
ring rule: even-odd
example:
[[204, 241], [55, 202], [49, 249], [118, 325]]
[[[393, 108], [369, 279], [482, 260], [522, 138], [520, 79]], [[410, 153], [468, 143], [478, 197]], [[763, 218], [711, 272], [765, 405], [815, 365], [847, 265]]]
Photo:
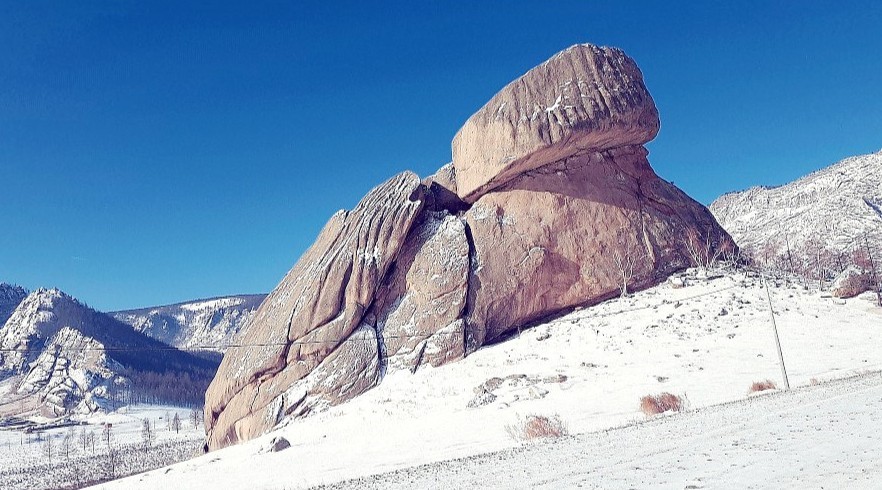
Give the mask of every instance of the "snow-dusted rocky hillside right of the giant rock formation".
[[788, 244], [801, 252], [816, 239], [849, 252], [865, 233], [882, 240], [882, 151], [846, 158], [780, 187], [725, 194], [710, 210], [743, 248], [780, 255]]

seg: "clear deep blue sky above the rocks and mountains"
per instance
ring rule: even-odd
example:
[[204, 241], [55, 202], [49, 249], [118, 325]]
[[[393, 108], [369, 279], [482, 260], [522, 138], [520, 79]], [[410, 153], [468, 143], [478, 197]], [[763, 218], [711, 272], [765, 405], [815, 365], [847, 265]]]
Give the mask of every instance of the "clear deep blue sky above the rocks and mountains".
[[579, 42], [637, 60], [650, 161], [704, 203], [882, 148], [877, 2], [331, 3], [3, 2], [0, 281], [104, 310], [269, 291]]

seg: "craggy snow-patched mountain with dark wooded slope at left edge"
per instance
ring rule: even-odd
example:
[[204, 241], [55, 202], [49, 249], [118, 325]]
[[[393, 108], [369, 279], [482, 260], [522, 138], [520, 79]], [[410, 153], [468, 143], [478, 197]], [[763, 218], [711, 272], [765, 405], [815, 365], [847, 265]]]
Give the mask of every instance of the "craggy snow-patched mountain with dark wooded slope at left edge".
[[151, 339], [57, 289], [28, 295], [0, 329], [0, 415], [113, 403], [199, 403], [217, 364]]

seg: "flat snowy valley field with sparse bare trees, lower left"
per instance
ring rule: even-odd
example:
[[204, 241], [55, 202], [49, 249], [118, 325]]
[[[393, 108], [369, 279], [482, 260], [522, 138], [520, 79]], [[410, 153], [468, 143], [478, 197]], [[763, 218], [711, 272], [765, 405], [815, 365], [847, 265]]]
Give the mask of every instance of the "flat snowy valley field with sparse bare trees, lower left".
[[[169, 430], [168, 424], [175, 413], [180, 419], [178, 432]], [[78, 488], [192, 458], [202, 452], [204, 429], [201, 422], [199, 428], [194, 428], [190, 415], [191, 410], [181, 407], [136, 405], [109, 414], [76, 417], [74, 425], [64, 427], [35, 427], [30, 431], [0, 427], [0, 488]], [[146, 452], [142, 437], [145, 418], [150, 420], [156, 435]], [[111, 424], [113, 457], [108, 451], [106, 423]], [[50, 438], [52, 442], [47, 444]]]

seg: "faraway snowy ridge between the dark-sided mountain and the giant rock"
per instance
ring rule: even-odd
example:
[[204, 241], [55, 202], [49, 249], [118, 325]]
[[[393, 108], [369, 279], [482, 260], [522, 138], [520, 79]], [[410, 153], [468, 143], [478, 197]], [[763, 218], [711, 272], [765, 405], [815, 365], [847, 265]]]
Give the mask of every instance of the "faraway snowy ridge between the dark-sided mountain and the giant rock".
[[254, 316], [265, 297], [225, 296], [110, 314], [160, 342], [181, 349], [208, 347], [222, 352]]

